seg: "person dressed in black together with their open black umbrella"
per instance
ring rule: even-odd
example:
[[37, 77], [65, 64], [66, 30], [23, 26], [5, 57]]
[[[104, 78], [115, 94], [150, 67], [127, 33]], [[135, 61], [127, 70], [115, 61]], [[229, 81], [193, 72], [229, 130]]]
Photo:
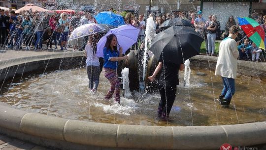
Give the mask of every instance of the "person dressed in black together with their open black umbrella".
[[184, 69], [184, 61], [199, 55], [200, 45], [203, 38], [191, 27], [172, 26], [156, 35], [150, 50], [159, 65], [152, 76], [148, 78], [153, 81], [161, 72], [159, 77], [159, 92], [161, 101], [158, 107], [158, 117], [167, 121], [169, 113], [176, 96], [176, 85], [178, 81], [178, 70]]

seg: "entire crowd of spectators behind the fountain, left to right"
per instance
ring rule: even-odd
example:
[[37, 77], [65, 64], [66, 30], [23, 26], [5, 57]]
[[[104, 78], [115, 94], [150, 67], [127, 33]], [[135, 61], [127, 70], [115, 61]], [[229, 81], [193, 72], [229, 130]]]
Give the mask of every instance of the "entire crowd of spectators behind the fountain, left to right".
[[[110, 8], [109, 11], [114, 11]], [[84, 50], [88, 38], [85, 37], [83, 41], [70, 41], [67, 39], [71, 32], [79, 26], [89, 23], [97, 23], [93, 15], [89, 12], [76, 12], [74, 14], [55, 13], [55, 12], [32, 12], [22, 11], [16, 14], [14, 10], [0, 10], [0, 46], [10, 49], [22, 49], [25, 46], [29, 49], [43, 49], [42, 41], [46, 42], [45, 49], [66, 50], [67, 47], [73, 47], [74, 50]], [[251, 17], [255, 19], [266, 30], [266, 15], [257, 15], [252, 13]], [[134, 15], [127, 13], [124, 17], [126, 24], [132, 24], [139, 28], [139, 40], [145, 37], [145, 16], [143, 14]], [[198, 11], [181, 11], [177, 15], [174, 13], [157, 14], [154, 17], [156, 34], [160, 33], [162, 29], [160, 26], [168, 19], [181, 18], [191, 22], [193, 28], [199, 35], [204, 38], [206, 53], [213, 56], [215, 52], [216, 39], [227, 38], [229, 29], [233, 25], [237, 25], [233, 16], [229, 16], [225, 23], [225, 31], [222, 33], [221, 25], [216, 15], [208, 15], [208, 19], [202, 17], [202, 12]], [[239, 39], [245, 36], [243, 32], [239, 32]], [[237, 38], [238, 39], [238, 38]], [[247, 40], [245, 40], [247, 41]], [[81, 43], [82, 42], [82, 43]], [[54, 44], [54, 48], [52, 48]], [[240, 53], [239, 59], [249, 61], [259, 61], [260, 55], [265, 55], [265, 50], [258, 49], [258, 47], [251, 46], [252, 41], [243, 42], [238, 46]]]

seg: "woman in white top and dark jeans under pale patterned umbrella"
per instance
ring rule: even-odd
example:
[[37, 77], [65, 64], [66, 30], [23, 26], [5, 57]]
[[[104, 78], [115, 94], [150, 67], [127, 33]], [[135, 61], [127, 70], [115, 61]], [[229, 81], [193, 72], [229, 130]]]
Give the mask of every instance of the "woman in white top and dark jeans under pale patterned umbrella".
[[85, 47], [87, 74], [91, 92], [97, 91], [100, 80], [100, 62], [99, 58], [96, 56], [96, 51], [97, 43], [94, 42], [93, 36], [91, 36]]

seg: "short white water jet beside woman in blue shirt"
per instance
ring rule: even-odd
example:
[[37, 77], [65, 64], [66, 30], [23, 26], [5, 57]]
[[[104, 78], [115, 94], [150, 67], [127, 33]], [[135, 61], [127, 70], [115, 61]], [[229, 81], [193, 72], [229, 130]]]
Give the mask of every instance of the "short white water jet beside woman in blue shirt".
[[121, 72], [123, 80], [123, 90], [125, 91], [124, 95], [126, 98], [132, 98], [130, 88], [129, 88], [129, 69], [124, 68]]

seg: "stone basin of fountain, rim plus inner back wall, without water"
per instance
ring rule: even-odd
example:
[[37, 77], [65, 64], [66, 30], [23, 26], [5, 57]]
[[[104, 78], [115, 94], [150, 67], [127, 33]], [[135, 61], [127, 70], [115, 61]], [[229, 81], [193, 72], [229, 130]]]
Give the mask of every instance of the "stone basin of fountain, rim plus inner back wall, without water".
[[[199, 67], [199, 63], [193, 62], [204, 63], [207, 56], [197, 57], [192, 59], [192, 64]], [[210, 62], [215, 64], [215, 58]], [[25, 63], [27, 67], [24, 67]], [[59, 69], [59, 66], [62, 69], [71, 66], [78, 68], [83, 63], [83, 52], [2, 61], [0, 80], [3, 82], [15, 74], [19, 76], [35, 70]], [[260, 78], [264, 79], [265, 66], [260, 65]], [[266, 144], [266, 122], [185, 127], [119, 125], [29, 113], [3, 103], [0, 103], [0, 132], [39, 145], [66, 150], [217, 150], [224, 143], [230, 143], [233, 147]]]

